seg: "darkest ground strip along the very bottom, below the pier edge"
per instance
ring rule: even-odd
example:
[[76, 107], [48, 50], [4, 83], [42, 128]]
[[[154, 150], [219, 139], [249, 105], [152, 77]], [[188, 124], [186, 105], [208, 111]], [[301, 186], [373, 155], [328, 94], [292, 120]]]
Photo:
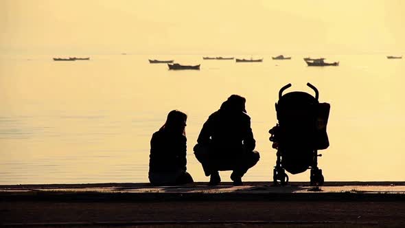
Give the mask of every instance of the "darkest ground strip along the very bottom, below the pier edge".
[[[364, 225], [405, 227], [405, 202], [220, 201], [0, 203], [1, 223]], [[166, 221], [166, 223], [164, 222]], [[250, 223], [249, 223], [250, 221]], [[257, 223], [253, 223], [257, 221]], [[262, 224], [259, 223], [262, 221]], [[218, 224], [219, 223], [219, 224]], [[73, 224], [71, 224], [73, 225]], [[82, 224], [85, 225], [85, 224]], [[99, 224], [99, 226], [102, 224]], [[125, 224], [122, 224], [125, 225]]]

